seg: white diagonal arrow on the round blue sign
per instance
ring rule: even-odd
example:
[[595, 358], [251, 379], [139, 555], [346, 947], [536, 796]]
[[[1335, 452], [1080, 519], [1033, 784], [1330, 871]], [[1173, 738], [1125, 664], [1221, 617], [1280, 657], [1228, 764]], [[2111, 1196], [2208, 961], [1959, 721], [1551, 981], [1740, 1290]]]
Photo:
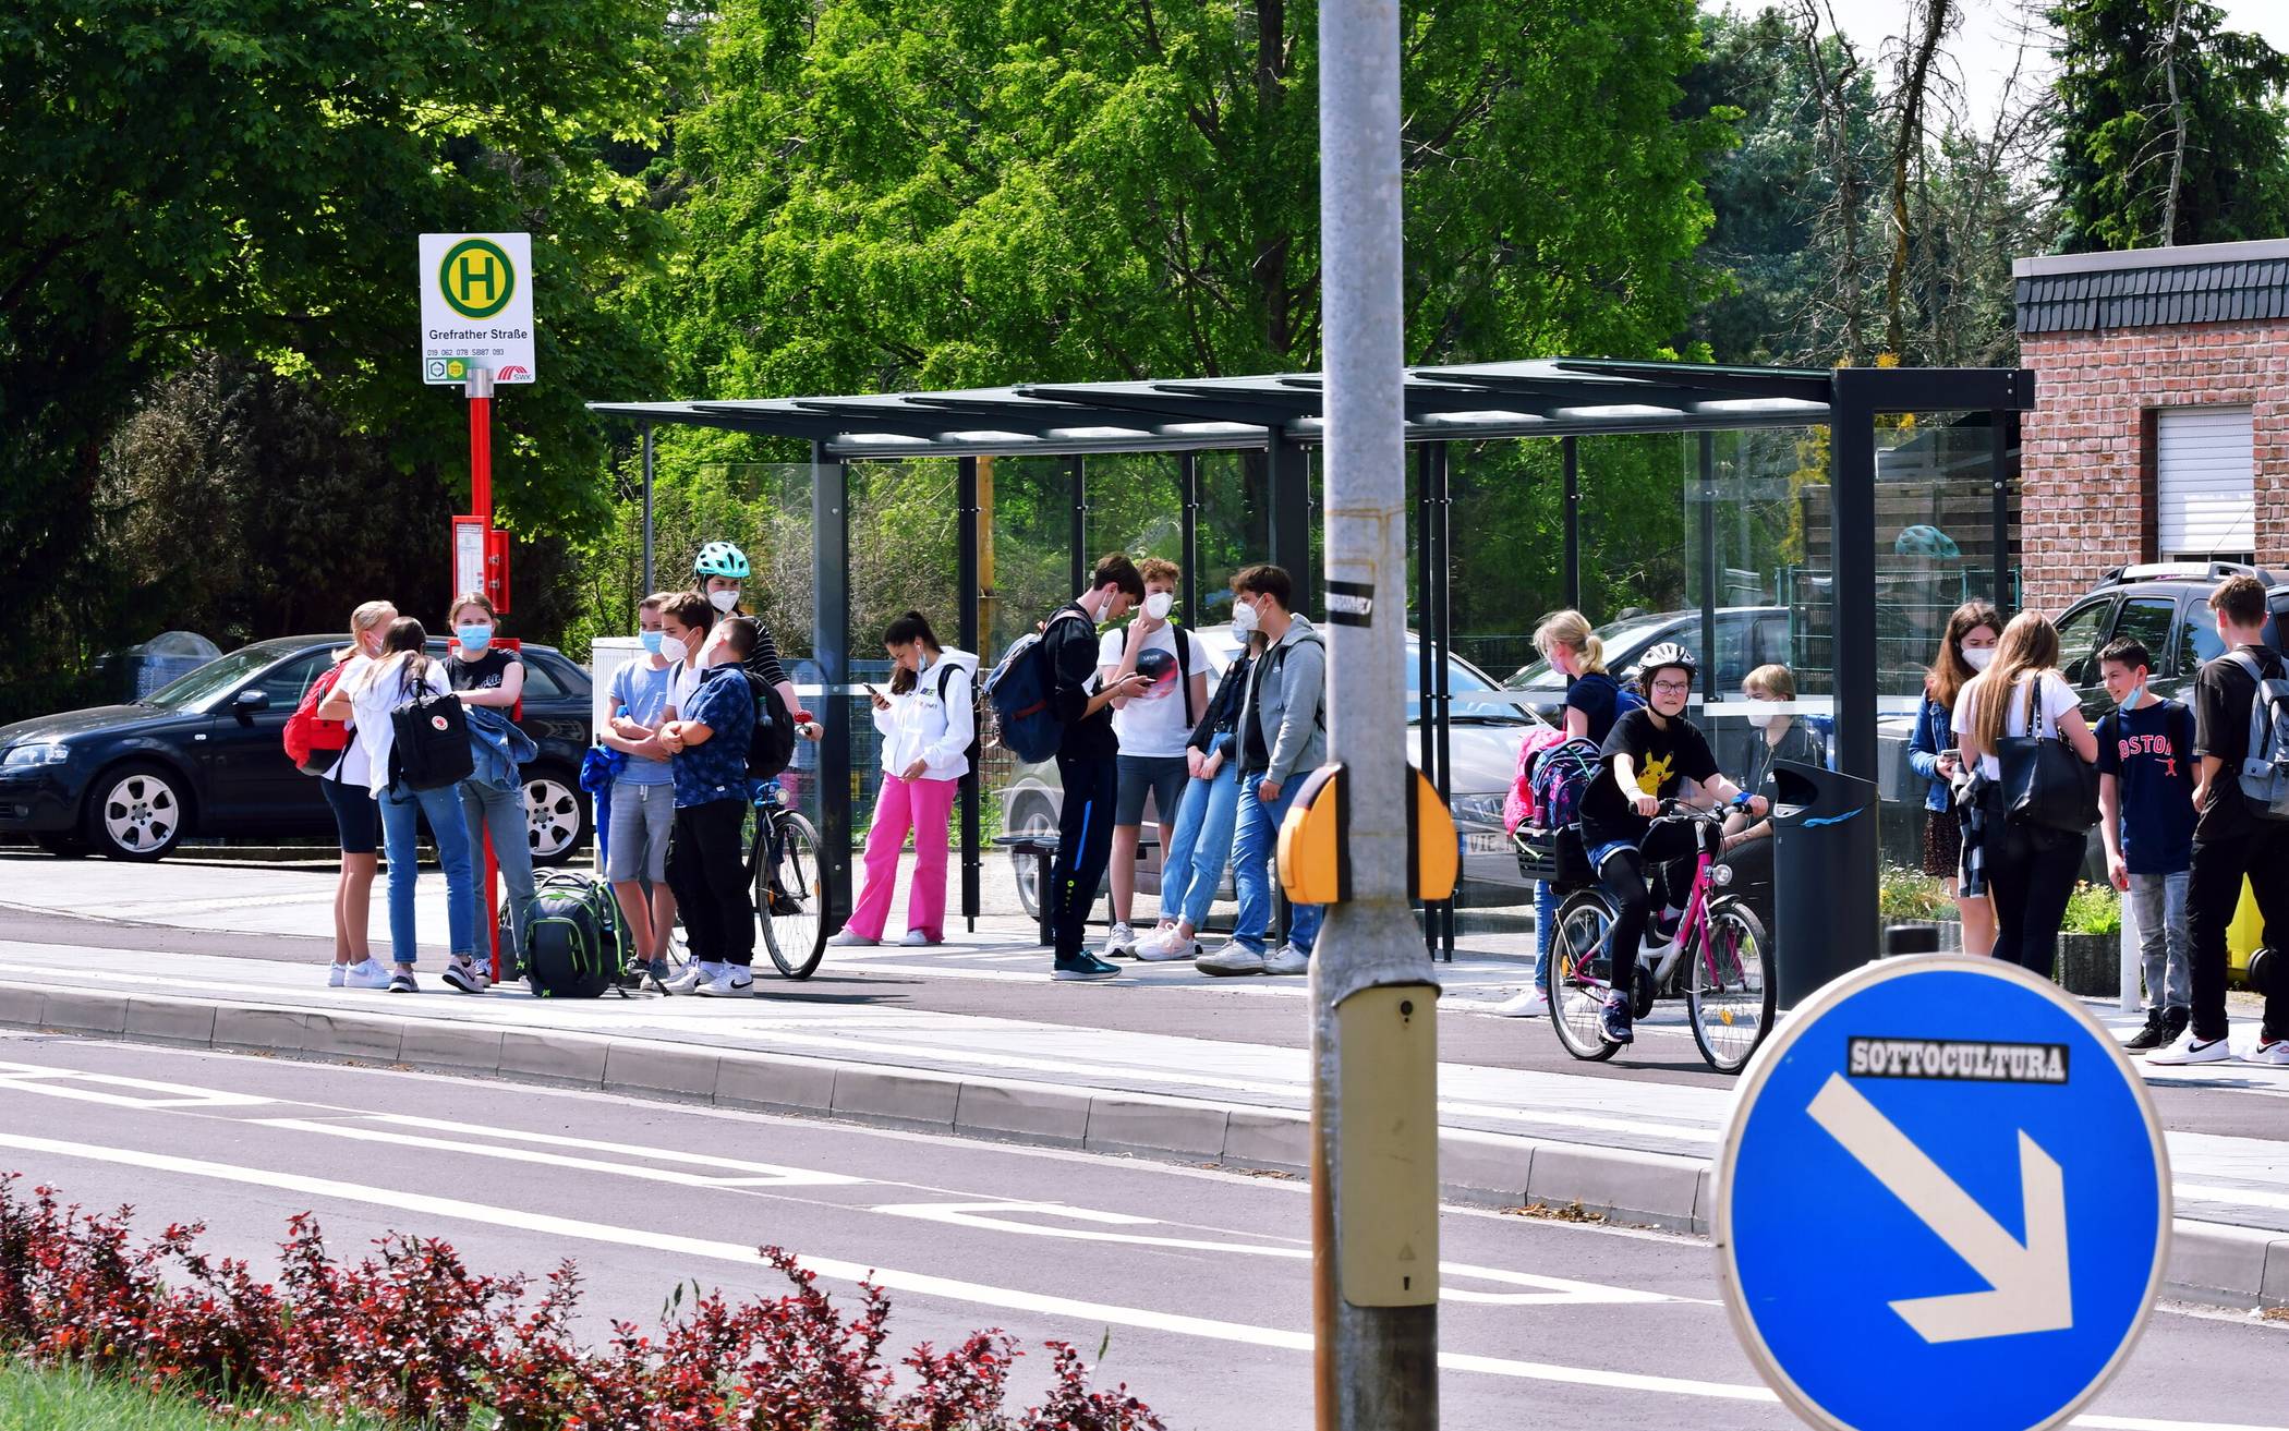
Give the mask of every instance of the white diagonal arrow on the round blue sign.
[[1948, 1250], [1987, 1278], [1989, 1291], [1918, 1296], [1891, 1303], [1925, 1342], [1971, 1342], [2074, 1326], [2074, 1278], [2067, 1259], [2067, 1181], [2058, 1159], [2019, 1133], [2019, 1188], [2026, 1211], [2021, 1243], [1971, 1193], [1939, 1168], [1843, 1074], [1829, 1074], [1808, 1113], [1845, 1145], [1884, 1191], [1907, 1204]]

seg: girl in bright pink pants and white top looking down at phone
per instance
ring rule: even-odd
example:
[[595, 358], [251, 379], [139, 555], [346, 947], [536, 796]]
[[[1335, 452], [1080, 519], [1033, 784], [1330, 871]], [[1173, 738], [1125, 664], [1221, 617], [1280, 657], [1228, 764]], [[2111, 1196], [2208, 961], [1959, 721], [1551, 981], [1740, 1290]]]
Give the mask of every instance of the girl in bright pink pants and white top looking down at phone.
[[[881, 943], [897, 884], [897, 852], [913, 831], [913, 886], [906, 891], [906, 939], [922, 946], [945, 939], [945, 820], [971, 769], [977, 737], [977, 657], [943, 650], [920, 611], [906, 611], [881, 637], [890, 653], [890, 694], [874, 694], [881, 733], [881, 797], [865, 838], [865, 886], [842, 932], [842, 948]], [[870, 687], [872, 689], [872, 687]]]

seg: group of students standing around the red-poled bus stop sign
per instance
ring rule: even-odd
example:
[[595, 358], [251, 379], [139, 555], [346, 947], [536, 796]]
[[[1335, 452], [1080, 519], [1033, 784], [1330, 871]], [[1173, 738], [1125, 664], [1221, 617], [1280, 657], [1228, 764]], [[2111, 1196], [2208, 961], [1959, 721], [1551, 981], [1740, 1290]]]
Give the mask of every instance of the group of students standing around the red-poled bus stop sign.
[[[671, 994], [739, 998], [753, 991], [755, 909], [749, 893], [744, 820], [749, 737], [762, 705], [758, 682], [797, 712], [799, 735], [817, 740], [781, 669], [769, 632], [739, 611], [746, 556], [710, 543], [694, 563], [698, 591], [648, 595], [639, 611], [643, 657], [611, 682], [607, 730], [618, 751], [607, 822], [607, 879], [632, 932], [632, 980], [648, 978]], [[336, 653], [330, 689], [316, 714], [348, 726], [350, 740], [316, 774], [341, 836], [334, 893], [332, 987], [419, 991], [417, 849], [421, 822], [437, 847], [446, 884], [449, 962], [444, 982], [462, 994], [492, 985], [485, 893], [476, 856], [490, 833], [508, 893], [506, 964], [524, 946], [533, 900], [533, 856], [520, 767], [536, 746], [513, 712], [524, 696], [524, 664], [494, 646], [499, 614], [483, 593], [446, 609], [453, 648], [428, 657], [428, 632], [391, 602], [350, 614], [350, 643]], [[451, 785], [417, 788], [396, 751], [396, 714], [410, 701], [456, 698], [469, 733], [472, 774]], [[439, 717], [442, 719], [442, 717]], [[389, 859], [391, 966], [366, 946], [366, 911], [375, 845]], [[678, 914], [689, 936], [689, 966], [668, 978], [668, 936]]]

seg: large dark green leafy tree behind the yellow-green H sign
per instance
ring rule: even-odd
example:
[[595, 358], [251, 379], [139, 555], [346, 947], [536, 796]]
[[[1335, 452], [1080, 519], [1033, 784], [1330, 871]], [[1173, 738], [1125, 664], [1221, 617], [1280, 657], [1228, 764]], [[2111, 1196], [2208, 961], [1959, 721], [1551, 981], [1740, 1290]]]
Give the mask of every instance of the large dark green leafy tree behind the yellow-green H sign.
[[[666, 229], [613, 169], [659, 135], [664, 0], [18, 0], [0, 11], [0, 609], [82, 570], [101, 453], [199, 350], [304, 378], [421, 511], [460, 414], [414, 373], [414, 236], [531, 229], [542, 382], [499, 403], [504, 515], [600, 508], [581, 398], [657, 371], [613, 300]], [[27, 623], [53, 625], [53, 623]], [[11, 643], [0, 685], [48, 641]]]

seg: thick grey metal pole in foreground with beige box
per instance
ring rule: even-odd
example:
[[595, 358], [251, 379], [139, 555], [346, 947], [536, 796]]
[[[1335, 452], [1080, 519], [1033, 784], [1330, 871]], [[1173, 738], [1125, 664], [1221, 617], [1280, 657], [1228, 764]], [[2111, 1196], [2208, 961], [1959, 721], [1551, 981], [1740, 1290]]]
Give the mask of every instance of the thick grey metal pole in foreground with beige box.
[[[1312, 959], [1316, 1406], [1323, 1431], [1431, 1431], [1437, 987], [1408, 909], [1415, 776], [1394, 758], [1405, 714], [1392, 698], [1405, 689], [1408, 572], [1399, 2], [1330, 0], [1318, 41], [1325, 698], [1330, 753], [1346, 767], [1351, 888], [1328, 909]], [[1277, 527], [1273, 540], [1284, 545]], [[1337, 593], [1348, 598], [1341, 620]]]

